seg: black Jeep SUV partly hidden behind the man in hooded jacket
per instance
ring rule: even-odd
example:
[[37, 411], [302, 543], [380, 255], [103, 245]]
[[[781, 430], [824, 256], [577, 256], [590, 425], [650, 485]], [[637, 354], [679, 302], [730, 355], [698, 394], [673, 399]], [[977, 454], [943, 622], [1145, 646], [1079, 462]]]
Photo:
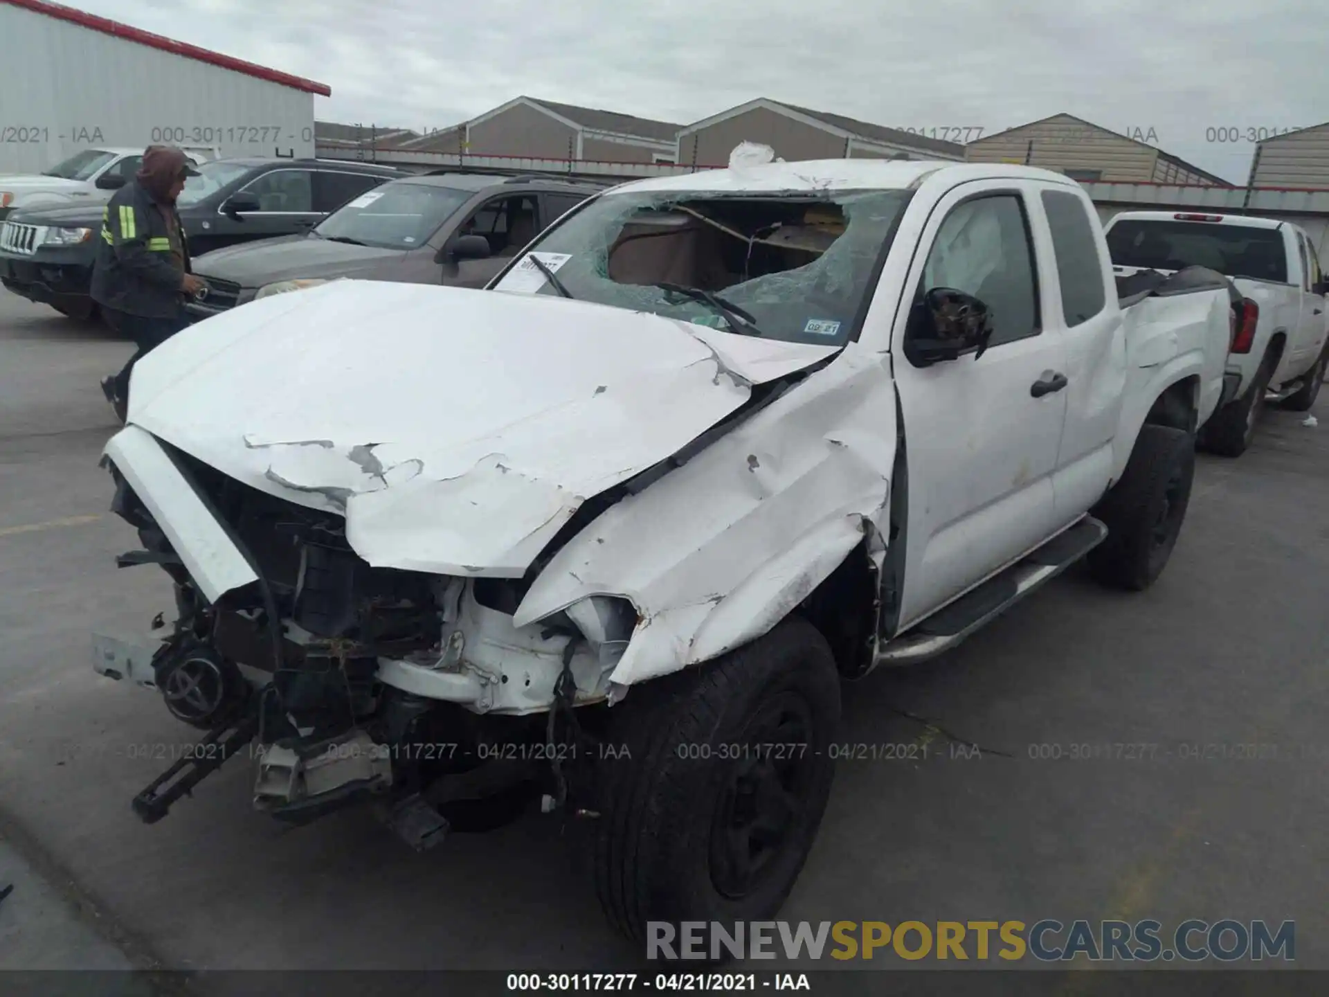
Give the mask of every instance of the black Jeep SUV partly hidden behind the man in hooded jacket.
[[[365, 190], [407, 175], [371, 164], [283, 158], [214, 160], [198, 170], [177, 202], [191, 255], [308, 231]], [[89, 318], [104, 210], [97, 203], [15, 211], [0, 227], [0, 283], [65, 315]]]

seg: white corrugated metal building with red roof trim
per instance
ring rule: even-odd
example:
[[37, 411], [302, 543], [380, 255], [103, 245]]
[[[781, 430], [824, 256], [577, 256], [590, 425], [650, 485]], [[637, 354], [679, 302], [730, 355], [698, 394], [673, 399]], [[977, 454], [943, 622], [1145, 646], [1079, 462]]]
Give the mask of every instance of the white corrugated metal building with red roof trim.
[[314, 156], [328, 86], [47, 0], [0, 0], [0, 173], [161, 142]]

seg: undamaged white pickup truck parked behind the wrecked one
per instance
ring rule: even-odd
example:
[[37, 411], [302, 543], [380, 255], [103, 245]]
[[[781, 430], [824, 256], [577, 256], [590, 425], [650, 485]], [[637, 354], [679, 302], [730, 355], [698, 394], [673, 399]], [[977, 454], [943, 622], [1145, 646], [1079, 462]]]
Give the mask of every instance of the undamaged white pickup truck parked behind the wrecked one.
[[1329, 363], [1329, 284], [1302, 229], [1245, 215], [1123, 211], [1106, 235], [1119, 277], [1203, 266], [1229, 277], [1244, 298], [1228, 388], [1200, 436], [1205, 449], [1244, 453], [1267, 399], [1297, 412], [1314, 404]]

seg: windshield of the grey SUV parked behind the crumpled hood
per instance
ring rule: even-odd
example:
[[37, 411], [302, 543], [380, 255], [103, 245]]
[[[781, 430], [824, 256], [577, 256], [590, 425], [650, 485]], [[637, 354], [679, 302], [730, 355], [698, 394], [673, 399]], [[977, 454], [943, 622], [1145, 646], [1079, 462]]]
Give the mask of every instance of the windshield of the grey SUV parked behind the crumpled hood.
[[314, 229], [324, 239], [408, 250], [423, 246], [474, 191], [433, 183], [387, 183], [360, 194]]

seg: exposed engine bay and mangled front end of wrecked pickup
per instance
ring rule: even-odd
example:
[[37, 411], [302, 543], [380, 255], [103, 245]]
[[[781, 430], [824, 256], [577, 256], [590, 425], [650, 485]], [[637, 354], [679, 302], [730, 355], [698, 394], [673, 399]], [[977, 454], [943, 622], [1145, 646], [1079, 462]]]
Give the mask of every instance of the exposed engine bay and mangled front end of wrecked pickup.
[[[601, 679], [635, 623], [627, 604], [602, 601], [603, 617], [582, 619], [602, 634], [594, 646], [566, 617], [521, 634], [512, 613], [522, 580], [372, 568], [338, 516], [173, 457], [259, 582], [210, 602], [112, 464], [112, 508], [144, 544], [118, 564], [165, 569], [177, 618], [154, 621], [150, 661], [104, 643], [98, 670], [129, 673], [159, 690], [177, 719], [207, 731], [136, 798], [145, 822], [255, 738], [254, 804], [290, 823], [373, 800], [409, 844], [427, 848], [452, 826], [485, 830], [516, 816], [534, 796], [566, 804], [573, 770], [597, 747], [595, 711], [573, 707], [603, 699]], [[541, 658], [552, 667], [534, 667]]]

